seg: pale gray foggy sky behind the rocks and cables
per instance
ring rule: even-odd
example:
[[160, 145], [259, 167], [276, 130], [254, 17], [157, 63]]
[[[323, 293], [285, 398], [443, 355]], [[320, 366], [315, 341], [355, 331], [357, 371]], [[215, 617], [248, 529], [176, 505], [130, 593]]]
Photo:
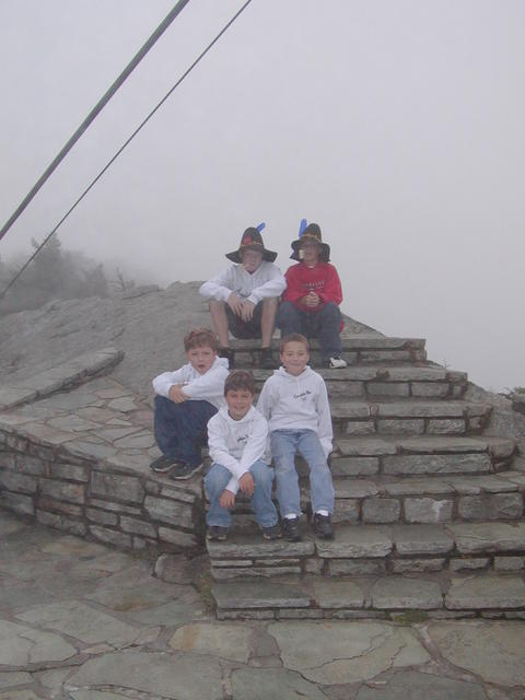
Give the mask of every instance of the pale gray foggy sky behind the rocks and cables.
[[[1, 223], [173, 4], [0, 0]], [[190, 0], [2, 259], [54, 228], [242, 4]], [[524, 47], [522, 0], [253, 0], [59, 237], [165, 285], [217, 272], [261, 221], [285, 270], [304, 217], [346, 313], [425, 337], [487, 388], [524, 385]]]

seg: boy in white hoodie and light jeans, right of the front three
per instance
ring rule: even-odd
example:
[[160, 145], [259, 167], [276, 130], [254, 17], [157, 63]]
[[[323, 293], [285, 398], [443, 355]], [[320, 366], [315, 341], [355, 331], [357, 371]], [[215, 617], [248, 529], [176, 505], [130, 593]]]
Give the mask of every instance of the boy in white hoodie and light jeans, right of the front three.
[[271, 454], [276, 467], [277, 500], [283, 535], [301, 538], [301, 502], [295, 453], [310, 468], [314, 533], [332, 538], [334, 485], [327, 458], [331, 452], [331, 418], [326, 385], [307, 362], [310, 347], [300, 334], [281, 341], [281, 366], [266, 382], [257, 408], [268, 420]]

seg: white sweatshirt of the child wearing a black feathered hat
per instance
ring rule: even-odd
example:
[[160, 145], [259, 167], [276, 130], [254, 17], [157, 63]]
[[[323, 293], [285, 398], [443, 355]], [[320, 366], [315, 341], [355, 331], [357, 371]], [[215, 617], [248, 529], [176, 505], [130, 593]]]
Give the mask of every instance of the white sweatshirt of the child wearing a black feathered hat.
[[280, 296], [285, 289], [287, 280], [277, 265], [262, 260], [252, 273], [246, 272], [243, 265], [232, 265], [205, 282], [199, 294], [205, 299], [226, 302], [235, 292], [241, 300], [258, 304], [264, 299]]

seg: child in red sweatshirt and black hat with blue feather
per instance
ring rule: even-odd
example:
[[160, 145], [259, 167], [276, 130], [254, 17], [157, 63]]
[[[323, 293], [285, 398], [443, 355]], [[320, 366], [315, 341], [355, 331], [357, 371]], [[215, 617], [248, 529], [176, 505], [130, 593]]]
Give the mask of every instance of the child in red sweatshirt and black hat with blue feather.
[[303, 219], [292, 249], [290, 257], [299, 262], [285, 272], [287, 291], [277, 317], [281, 336], [299, 332], [306, 338], [318, 338], [323, 365], [335, 370], [346, 368], [340, 338], [341, 282], [336, 268], [328, 262], [330, 246], [323, 242], [319, 225], [306, 225]]

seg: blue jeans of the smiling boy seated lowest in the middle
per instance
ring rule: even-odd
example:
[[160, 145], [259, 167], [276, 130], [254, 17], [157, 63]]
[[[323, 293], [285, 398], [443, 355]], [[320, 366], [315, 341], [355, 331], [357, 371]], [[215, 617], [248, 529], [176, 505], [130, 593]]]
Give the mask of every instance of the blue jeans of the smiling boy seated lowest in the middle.
[[[249, 472], [255, 481], [255, 491], [250, 502], [257, 523], [261, 527], [270, 527], [278, 520], [277, 510], [271, 500], [273, 469], [266, 462], [258, 459], [249, 467]], [[230, 511], [226, 508], [222, 508], [219, 502], [221, 493], [231, 478], [231, 472], [220, 464], [212, 464], [211, 469], [206, 475], [205, 487], [210, 499], [210, 510], [207, 513], [206, 522], [210, 526], [229, 527], [232, 522]]]

